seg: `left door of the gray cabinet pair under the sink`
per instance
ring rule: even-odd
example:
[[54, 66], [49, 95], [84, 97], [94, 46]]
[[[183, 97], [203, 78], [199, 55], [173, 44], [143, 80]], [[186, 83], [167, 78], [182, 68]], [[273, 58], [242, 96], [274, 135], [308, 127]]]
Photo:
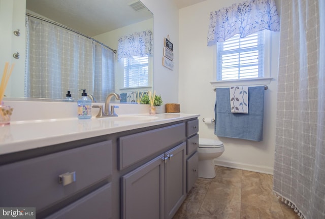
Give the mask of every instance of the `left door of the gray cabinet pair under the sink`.
[[121, 178], [121, 218], [164, 219], [164, 157], [160, 155]]

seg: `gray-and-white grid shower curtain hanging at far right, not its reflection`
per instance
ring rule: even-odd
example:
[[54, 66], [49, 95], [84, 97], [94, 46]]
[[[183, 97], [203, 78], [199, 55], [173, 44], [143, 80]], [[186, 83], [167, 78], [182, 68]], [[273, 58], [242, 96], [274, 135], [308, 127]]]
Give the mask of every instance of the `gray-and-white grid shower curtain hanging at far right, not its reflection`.
[[325, 218], [325, 1], [282, 0], [273, 192]]

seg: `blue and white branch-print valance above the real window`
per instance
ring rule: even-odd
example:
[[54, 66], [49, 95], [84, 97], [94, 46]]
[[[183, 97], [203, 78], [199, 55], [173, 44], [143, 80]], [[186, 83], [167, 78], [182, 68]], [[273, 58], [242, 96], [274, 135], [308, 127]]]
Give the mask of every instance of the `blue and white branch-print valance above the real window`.
[[249, 0], [210, 13], [208, 46], [241, 38], [259, 30], [280, 31], [280, 19], [274, 0]]

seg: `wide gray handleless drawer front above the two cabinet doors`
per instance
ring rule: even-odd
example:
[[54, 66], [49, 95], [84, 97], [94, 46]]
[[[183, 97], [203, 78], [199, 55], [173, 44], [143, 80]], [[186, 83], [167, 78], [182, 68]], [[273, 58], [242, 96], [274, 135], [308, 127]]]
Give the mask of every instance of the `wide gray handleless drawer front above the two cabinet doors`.
[[158, 153], [185, 138], [185, 123], [119, 138], [119, 170]]

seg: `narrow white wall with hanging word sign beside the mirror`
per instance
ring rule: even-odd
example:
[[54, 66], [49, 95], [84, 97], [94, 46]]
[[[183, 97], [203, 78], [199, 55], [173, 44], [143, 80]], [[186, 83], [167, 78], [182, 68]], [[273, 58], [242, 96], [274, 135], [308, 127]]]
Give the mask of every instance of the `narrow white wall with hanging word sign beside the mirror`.
[[[178, 101], [178, 9], [172, 0], [141, 0], [153, 13], [153, 89], [161, 94], [164, 105]], [[174, 70], [163, 66], [164, 38], [174, 44]], [[165, 106], [163, 107], [165, 111]]]

